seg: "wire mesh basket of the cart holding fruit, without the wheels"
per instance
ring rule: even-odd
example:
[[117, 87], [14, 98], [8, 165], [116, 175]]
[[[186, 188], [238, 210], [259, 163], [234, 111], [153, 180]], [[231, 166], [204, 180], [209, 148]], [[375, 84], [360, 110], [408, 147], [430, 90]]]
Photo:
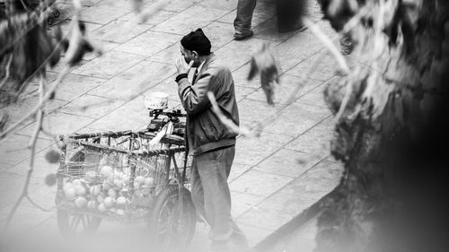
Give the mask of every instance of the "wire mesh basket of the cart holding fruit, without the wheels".
[[147, 216], [163, 188], [189, 183], [183, 139], [164, 138], [150, 148], [153, 137], [130, 131], [66, 137], [57, 208], [127, 222]]

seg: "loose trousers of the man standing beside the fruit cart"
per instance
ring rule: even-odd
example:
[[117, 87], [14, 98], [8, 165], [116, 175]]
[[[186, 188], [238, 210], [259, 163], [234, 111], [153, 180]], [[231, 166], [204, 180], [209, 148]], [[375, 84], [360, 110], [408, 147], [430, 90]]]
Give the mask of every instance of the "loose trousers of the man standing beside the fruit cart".
[[211, 251], [245, 251], [248, 241], [231, 216], [227, 178], [235, 146], [193, 156], [190, 173], [193, 204], [210, 225]]

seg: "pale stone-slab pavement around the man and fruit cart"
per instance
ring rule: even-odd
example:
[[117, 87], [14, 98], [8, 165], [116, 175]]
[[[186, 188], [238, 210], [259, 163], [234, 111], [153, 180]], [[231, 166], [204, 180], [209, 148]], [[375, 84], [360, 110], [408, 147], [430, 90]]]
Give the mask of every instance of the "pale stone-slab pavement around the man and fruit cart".
[[[233, 71], [243, 126], [254, 126], [273, 112], [260, 89], [260, 80], [246, 79], [251, 53], [261, 43], [269, 42], [275, 47], [281, 67], [277, 106], [285, 103], [296, 85], [304, 85], [298, 100], [286, 106], [281, 117], [264, 128], [259, 138], [240, 137], [237, 141], [229, 178], [233, 216], [251, 245], [302, 213], [338, 184], [342, 167], [330, 158], [332, 117], [322, 98], [323, 88], [335, 75], [335, 63], [329, 56], [321, 56], [323, 47], [310, 30], [279, 34], [272, 1], [259, 1], [252, 24], [255, 35], [243, 41], [233, 40], [237, 0], [173, 0], [144, 24], [136, 23], [131, 1], [82, 2], [82, 20], [87, 24], [89, 36], [101, 44], [104, 54], [86, 56], [66, 76], [56, 99], [46, 108], [44, 126], [49, 130], [69, 134], [143, 128], [149, 122], [143, 97], [154, 91], [170, 94], [169, 107], [180, 109], [177, 85], [173, 81], [174, 59], [180, 55], [182, 36], [201, 27], [211, 39], [216, 56]], [[145, 3], [150, 6], [154, 1]], [[336, 39], [329, 23], [321, 21], [316, 2], [310, 3], [310, 18]], [[72, 15], [71, 1], [57, 1], [57, 4], [61, 12], [57, 22], [66, 30]], [[319, 65], [306, 76], [318, 60]], [[54, 81], [61, 71], [60, 65], [52, 69], [48, 80]], [[37, 89], [37, 85], [33, 83], [29, 91]], [[129, 100], [135, 94], [142, 95]], [[36, 104], [37, 100], [27, 100], [14, 106], [13, 121]], [[85, 109], [89, 104], [102, 105]], [[34, 119], [30, 119], [0, 143], [2, 226], [24, 183], [30, 158], [26, 146], [34, 126]], [[45, 208], [54, 206], [56, 192], [56, 187], [44, 184], [45, 176], [57, 170], [57, 165], [43, 158], [51, 148], [55, 148], [51, 137], [40, 135], [30, 192], [31, 198]], [[106, 223], [99, 232], [106, 232], [108, 227], [125, 229]], [[25, 201], [13, 220], [13, 230], [47, 232], [54, 234], [49, 235], [52, 239], [58, 239], [56, 211], [42, 212]], [[313, 240], [313, 235], [309, 234], [308, 238]], [[198, 223], [190, 250], [207, 250], [204, 224]]]

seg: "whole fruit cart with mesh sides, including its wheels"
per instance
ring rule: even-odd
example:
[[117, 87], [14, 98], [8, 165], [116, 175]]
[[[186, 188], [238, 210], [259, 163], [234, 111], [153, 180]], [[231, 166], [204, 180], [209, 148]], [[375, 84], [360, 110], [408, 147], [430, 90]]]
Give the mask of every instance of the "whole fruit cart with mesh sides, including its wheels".
[[[197, 213], [188, 189], [185, 142], [166, 135], [157, 146], [149, 146], [154, 136], [147, 130], [61, 136], [65, 146], [56, 203], [63, 235], [92, 233], [102, 219], [145, 221], [155, 244], [166, 248], [189, 243]], [[105, 206], [106, 198], [113, 207]]]

